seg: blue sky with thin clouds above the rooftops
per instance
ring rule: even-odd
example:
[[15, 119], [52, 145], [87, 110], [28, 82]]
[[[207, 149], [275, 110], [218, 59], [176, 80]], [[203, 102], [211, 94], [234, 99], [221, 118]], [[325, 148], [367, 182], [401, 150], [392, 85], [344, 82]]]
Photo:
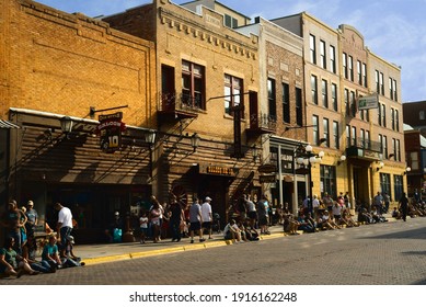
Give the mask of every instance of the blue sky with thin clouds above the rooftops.
[[[189, 0], [174, 0], [182, 4]], [[354, 26], [376, 55], [401, 67], [402, 102], [426, 100], [426, 0], [218, 0], [254, 20], [308, 12], [331, 27]], [[151, 0], [37, 0], [88, 16], [111, 15]], [[401, 101], [401, 100], [400, 100]]]

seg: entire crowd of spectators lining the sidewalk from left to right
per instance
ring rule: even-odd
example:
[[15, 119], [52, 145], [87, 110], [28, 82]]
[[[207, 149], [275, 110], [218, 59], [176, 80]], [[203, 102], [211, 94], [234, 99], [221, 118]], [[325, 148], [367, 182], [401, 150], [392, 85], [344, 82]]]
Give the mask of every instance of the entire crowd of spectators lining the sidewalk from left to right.
[[[157, 243], [166, 238], [172, 242], [180, 242], [188, 238], [191, 243], [198, 237], [199, 242], [212, 238], [212, 229], [220, 232], [220, 217], [212, 212], [211, 198], [195, 197], [193, 204], [183, 206], [177, 197], [172, 195], [170, 203], [160, 204], [156, 196], [151, 196], [151, 206], [138, 216], [139, 240], [145, 245], [147, 240]], [[288, 203], [273, 209], [265, 195], [257, 200], [257, 195], [243, 195], [233, 212], [230, 221], [223, 228], [223, 239], [234, 243], [256, 241], [261, 235], [269, 235], [269, 227], [283, 225], [283, 230], [290, 235], [300, 232], [316, 232], [333, 230], [343, 227], [358, 227], [361, 224], [377, 224], [388, 221], [384, 213], [389, 212], [390, 197], [387, 193], [378, 192], [369, 206], [356, 208], [357, 217], [352, 214], [349, 195], [339, 193], [336, 200], [327, 193], [320, 198], [313, 195], [303, 200], [296, 214], [289, 209]], [[48, 234], [43, 245], [41, 259], [36, 259], [37, 243], [35, 230], [38, 224], [37, 211], [34, 202], [28, 201], [25, 206], [19, 207], [11, 201], [8, 211], [1, 216], [1, 227], [5, 229], [7, 238], [0, 249], [0, 275], [16, 276], [23, 274], [55, 273], [58, 269], [84, 265], [81, 259], [73, 253], [74, 239], [71, 236], [73, 221], [72, 213], [60, 203], [54, 205], [58, 213], [55, 229], [46, 225]], [[413, 201], [403, 193], [399, 205], [391, 212], [392, 217], [406, 220], [410, 216], [426, 216], [426, 203], [419, 197]], [[164, 227], [166, 225], [166, 227]], [[113, 221], [105, 234], [110, 242], [123, 240], [124, 225], [118, 212], [115, 212]], [[134, 229], [135, 230], [135, 229]]]

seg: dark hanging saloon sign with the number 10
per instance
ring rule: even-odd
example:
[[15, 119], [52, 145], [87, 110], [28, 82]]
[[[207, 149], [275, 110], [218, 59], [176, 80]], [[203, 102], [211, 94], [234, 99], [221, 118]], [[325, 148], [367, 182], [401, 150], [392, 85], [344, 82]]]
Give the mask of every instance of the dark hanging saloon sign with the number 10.
[[100, 115], [97, 133], [101, 137], [101, 149], [113, 154], [122, 147], [122, 132], [126, 129], [126, 124], [122, 122], [123, 112]]

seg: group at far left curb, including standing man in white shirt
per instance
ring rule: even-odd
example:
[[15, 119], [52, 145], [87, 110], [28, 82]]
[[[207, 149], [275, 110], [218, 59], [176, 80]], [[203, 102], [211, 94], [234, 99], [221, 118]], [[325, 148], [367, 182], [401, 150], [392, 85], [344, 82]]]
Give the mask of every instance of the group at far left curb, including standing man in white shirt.
[[58, 269], [84, 265], [72, 251], [74, 239], [71, 236], [71, 211], [60, 203], [55, 204], [55, 209], [58, 212], [57, 231], [46, 228], [50, 234], [43, 245], [41, 259], [36, 259], [38, 214], [34, 202], [28, 201], [22, 207], [18, 206], [16, 201], [9, 203], [0, 218], [1, 227], [5, 230], [4, 243], [0, 248], [1, 276], [19, 278], [23, 274], [55, 273]]

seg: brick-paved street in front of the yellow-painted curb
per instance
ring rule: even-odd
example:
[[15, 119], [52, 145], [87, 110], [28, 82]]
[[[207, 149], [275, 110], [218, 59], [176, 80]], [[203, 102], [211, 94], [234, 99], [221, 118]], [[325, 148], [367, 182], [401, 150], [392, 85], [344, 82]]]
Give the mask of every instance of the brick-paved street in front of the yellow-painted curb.
[[426, 217], [2, 278], [0, 285], [424, 285]]

